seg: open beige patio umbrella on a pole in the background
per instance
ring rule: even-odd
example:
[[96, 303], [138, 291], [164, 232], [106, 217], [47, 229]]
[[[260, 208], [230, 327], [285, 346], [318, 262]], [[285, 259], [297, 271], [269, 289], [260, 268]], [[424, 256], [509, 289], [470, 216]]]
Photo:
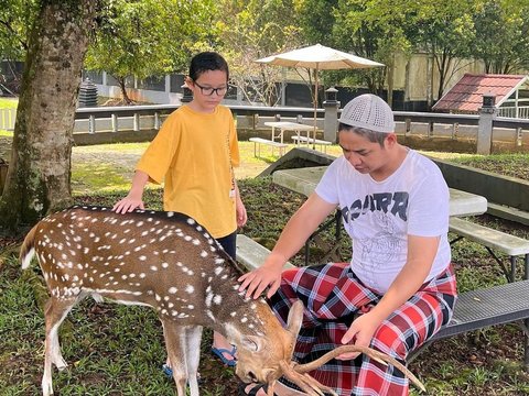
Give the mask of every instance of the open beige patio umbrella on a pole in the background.
[[268, 56], [256, 61], [257, 63], [288, 67], [305, 67], [314, 70], [314, 143], [316, 140], [316, 111], [317, 111], [317, 75], [320, 70], [356, 69], [385, 66], [378, 62], [369, 61], [356, 55], [347, 54], [321, 44], [289, 51], [282, 54]]

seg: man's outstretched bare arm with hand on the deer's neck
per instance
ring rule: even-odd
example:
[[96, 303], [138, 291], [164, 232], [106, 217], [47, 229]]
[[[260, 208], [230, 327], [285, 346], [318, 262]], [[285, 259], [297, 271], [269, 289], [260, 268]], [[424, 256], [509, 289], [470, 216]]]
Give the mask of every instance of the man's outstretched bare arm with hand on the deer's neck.
[[267, 293], [270, 298], [279, 288], [283, 265], [300, 251], [309, 237], [335, 208], [336, 205], [324, 201], [315, 193], [312, 194], [291, 217], [264, 263], [239, 277], [238, 280], [242, 283], [239, 290], [246, 289], [247, 297], [253, 295], [253, 298], [258, 298], [270, 286]]

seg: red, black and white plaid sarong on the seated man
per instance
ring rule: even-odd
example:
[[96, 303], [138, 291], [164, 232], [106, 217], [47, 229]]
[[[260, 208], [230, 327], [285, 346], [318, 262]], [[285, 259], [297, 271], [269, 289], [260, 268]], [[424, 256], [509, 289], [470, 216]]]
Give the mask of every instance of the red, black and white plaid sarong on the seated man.
[[[270, 306], [284, 323], [292, 302], [303, 301], [305, 314], [294, 358], [305, 363], [339, 346], [354, 318], [380, 298], [361, 284], [348, 263], [330, 263], [285, 271]], [[409, 352], [450, 321], [455, 299], [455, 275], [449, 267], [380, 324], [370, 346], [404, 363]], [[343, 396], [409, 393], [408, 380], [400, 371], [365, 355], [352, 361], [332, 360], [311, 375]]]

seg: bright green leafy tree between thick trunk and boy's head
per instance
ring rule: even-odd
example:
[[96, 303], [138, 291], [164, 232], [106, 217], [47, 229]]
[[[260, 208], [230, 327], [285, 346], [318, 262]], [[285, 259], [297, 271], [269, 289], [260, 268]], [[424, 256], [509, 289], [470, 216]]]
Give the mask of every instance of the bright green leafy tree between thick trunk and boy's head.
[[210, 29], [213, 2], [114, 0], [101, 13], [86, 67], [107, 72], [130, 103], [127, 78], [181, 72]]

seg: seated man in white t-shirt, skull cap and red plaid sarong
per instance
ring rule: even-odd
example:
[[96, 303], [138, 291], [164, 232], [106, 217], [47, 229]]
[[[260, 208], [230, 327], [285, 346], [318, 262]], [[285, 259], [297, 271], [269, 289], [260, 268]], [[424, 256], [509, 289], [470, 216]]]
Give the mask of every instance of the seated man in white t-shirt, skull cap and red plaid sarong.
[[[314, 194], [292, 216], [262, 266], [240, 277], [240, 289], [267, 296], [287, 321], [305, 305], [294, 356], [312, 361], [341, 344], [369, 345], [404, 361], [452, 317], [449, 188], [436, 165], [397, 142], [391, 108], [375, 95], [348, 102], [334, 161]], [[353, 241], [350, 263], [289, 270], [283, 265], [336, 207]], [[393, 366], [348, 353], [311, 373], [339, 395], [407, 395]], [[300, 395], [292, 385], [278, 395]], [[251, 387], [251, 386], [250, 386]], [[248, 394], [263, 389], [248, 387]]]

